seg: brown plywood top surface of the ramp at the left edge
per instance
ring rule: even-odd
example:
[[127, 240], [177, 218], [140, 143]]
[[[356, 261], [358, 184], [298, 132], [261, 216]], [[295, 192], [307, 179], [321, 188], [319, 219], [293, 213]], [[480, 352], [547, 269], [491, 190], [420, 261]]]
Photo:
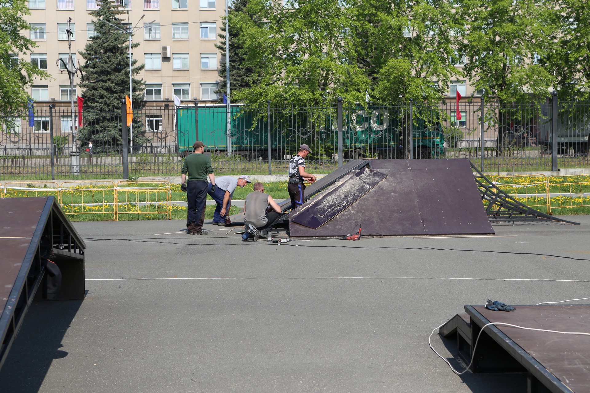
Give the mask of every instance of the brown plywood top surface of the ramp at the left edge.
[[47, 197], [0, 199], [0, 309], [12, 290]]

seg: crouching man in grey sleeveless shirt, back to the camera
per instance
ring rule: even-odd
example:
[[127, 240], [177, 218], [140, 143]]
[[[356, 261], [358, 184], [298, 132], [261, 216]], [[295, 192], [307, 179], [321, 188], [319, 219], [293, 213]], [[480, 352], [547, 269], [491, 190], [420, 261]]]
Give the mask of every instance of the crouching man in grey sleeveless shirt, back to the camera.
[[254, 183], [254, 191], [246, 196], [244, 202], [244, 224], [246, 232], [251, 232], [254, 227], [254, 241], [260, 236], [267, 236], [268, 231], [281, 216], [281, 208], [273, 197], [264, 193], [264, 186], [260, 181]]

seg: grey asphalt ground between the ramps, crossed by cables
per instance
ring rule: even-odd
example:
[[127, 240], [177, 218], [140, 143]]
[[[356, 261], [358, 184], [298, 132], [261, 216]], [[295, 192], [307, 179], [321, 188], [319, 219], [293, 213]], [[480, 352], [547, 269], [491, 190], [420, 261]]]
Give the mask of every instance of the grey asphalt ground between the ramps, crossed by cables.
[[[523, 374], [458, 377], [428, 336], [489, 298], [589, 297], [576, 280], [590, 280], [590, 216], [565, 218], [582, 225], [281, 245], [211, 224], [76, 222], [86, 298], [31, 306], [0, 391], [526, 391]], [[453, 341], [432, 342], [463, 369]]]

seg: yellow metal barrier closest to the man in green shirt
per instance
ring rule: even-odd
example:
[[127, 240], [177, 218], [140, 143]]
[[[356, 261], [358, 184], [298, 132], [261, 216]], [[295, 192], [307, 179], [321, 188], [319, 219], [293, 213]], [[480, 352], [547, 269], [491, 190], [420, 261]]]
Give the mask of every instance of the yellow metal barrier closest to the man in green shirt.
[[158, 214], [172, 218], [168, 181], [119, 181], [116, 186], [115, 221], [119, 214]]

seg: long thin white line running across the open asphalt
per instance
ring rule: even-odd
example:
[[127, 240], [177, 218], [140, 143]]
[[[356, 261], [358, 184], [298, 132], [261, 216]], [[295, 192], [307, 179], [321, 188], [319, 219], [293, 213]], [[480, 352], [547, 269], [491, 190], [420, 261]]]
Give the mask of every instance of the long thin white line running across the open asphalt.
[[536, 278], [467, 278], [467, 277], [169, 277], [169, 278], [87, 278], [86, 281], [137, 280], [489, 280], [489, 281], [559, 281], [590, 282], [590, 280], [558, 280]]

